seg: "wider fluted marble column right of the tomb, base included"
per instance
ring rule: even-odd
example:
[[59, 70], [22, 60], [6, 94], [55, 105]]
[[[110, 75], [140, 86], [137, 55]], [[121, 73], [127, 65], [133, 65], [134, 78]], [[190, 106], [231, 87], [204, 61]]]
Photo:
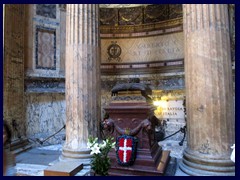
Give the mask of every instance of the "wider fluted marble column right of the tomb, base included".
[[235, 175], [228, 6], [183, 5], [187, 148], [180, 168], [189, 175]]

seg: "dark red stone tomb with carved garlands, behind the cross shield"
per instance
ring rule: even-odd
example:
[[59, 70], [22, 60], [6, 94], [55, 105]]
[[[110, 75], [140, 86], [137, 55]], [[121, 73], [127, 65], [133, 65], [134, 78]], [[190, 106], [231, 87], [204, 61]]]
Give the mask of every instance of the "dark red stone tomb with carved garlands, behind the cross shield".
[[[105, 107], [108, 119], [104, 120], [107, 136], [118, 139], [122, 135], [134, 137], [136, 155], [134, 162], [129, 165], [119, 163], [117, 153], [109, 153], [112, 176], [161, 176], [164, 175], [169, 151], [163, 151], [155, 139], [155, 125], [158, 119], [154, 116], [154, 108], [149, 99], [144, 97], [143, 90], [127, 89], [114, 92], [111, 103]], [[129, 86], [128, 86], [129, 87]]]

